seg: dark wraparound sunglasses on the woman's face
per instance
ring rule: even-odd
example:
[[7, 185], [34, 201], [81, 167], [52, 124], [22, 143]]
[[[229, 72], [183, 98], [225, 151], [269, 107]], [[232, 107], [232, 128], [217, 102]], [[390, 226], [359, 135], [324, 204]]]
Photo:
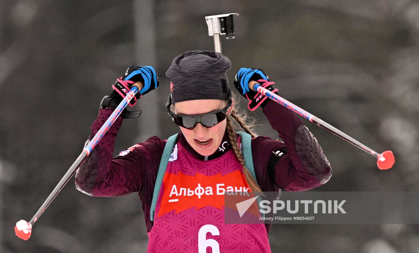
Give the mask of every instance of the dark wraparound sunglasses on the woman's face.
[[231, 103], [232, 101], [231, 99], [229, 99], [227, 105], [221, 110], [208, 112], [200, 115], [183, 115], [175, 114], [170, 110], [171, 98], [169, 98], [167, 112], [169, 113], [170, 117], [172, 117], [172, 120], [176, 123], [176, 125], [181, 126], [183, 128], [193, 130], [197, 123], [201, 123], [206, 128], [212, 128], [213, 126], [217, 125], [225, 118], [227, 118], [227, 111], [228, 108], [230, 108]]

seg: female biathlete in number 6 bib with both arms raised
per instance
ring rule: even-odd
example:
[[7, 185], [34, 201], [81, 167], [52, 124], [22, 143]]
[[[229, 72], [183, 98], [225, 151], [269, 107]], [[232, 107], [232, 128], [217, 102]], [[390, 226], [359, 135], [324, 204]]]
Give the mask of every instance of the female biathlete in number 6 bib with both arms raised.
[[[77, 171], [77, 189], [91, 196], [138, 192], [149, 236], [147, 252], [271, 252], [269, 225], [225, 224], [224, 193], [304, 191], [331, 176], [326, 156], [301, 120], [248, 86], [256, 81], [277, 92], [273, 82], [261, 69], [242, 68], [235, 87], [250, 110], [262, 107], [283, 142], [251, 131], [235, 107], [226, 75], [230, 67], [230, 60], [214, 51], [177, 56], [166, 72], [171, 79], [167, 108], [180, 127], [177, 136], [150, 137], [112, 158], [123, 120], [118, 118]], [[152, 67], [129, 67], [104, 98], [90, 138], [139, 81], [144, 87], [132, 103], [158, 87]], [[246, 133], [235, 133], [233, 120]], [[253, 166], [242, 150], [251, 150]]]

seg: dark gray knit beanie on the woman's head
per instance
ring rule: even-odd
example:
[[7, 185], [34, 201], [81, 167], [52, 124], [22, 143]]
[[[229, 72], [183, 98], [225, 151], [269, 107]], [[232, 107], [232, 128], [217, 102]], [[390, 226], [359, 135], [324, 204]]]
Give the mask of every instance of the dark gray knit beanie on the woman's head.
[[228, 100], [227, 70], [231, 62], [214, 51], [187, 51], [177, 56], [166, 72], [171, 79], [172, 104], [195, 99]]

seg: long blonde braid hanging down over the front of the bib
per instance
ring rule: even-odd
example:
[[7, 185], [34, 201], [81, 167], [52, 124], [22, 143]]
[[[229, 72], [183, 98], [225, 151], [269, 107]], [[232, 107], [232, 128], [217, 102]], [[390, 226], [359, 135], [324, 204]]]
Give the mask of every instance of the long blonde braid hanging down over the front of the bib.
[[231, 146], [231, 148], [233, 148], [233, 151], [234, 151], [234, 154], [235, 154], [236, 158], [238, 159], [238, 161], [240, 161], [241, 165], [243, 166], [244, 178], [246, 179], [249, 187], [252, 189], [253, 192], [261, 192], [262, 190], [259, 187], [259, 184], [256, 182], [256, 180], [250, 174], [250, 171], [246, 168], [246, 165], [244, 163], [243, 153], [241, 152], [241, 150], [240, 150], [240, 148], [237, 144], [237, 138], [235, 137], [233, 124], [231, 123], [231, 120], [230, 120], [229, 117], [227, 117], [226, 128], [227, 128], [227, 134], [228, 134], [228, 143], [230, 143], [230, 146]]

